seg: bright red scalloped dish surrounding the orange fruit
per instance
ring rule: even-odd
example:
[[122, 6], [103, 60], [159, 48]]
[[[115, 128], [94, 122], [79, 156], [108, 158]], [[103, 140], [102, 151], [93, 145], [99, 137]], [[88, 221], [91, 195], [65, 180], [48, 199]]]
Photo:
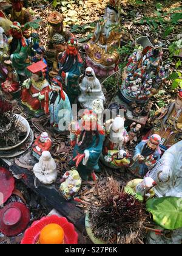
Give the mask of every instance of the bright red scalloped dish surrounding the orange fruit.
[[41, 230], [49, 224], [58, 224], [62, 227], [65, 244], [78, 244], [78, 233], [76, 233], [73, 224], [68, 222], [66, 218], [57, 215], [47, 216], [33, 222], [32, 226], [25, 231], [21, 244], [36, 244]]

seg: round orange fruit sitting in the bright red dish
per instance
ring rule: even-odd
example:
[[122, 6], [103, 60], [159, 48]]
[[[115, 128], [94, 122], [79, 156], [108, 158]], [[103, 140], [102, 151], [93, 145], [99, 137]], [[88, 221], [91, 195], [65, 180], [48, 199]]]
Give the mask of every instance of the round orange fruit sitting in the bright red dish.
[[64, 230], [58, 224], [45, 226], [39, 235], [40, 244], [63, 244]]

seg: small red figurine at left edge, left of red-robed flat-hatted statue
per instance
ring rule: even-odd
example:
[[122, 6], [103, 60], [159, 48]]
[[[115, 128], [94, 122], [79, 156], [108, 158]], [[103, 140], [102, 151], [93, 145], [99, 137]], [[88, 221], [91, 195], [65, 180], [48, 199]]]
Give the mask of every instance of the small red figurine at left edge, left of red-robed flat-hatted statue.
[[8, 64], [9, 62], [5, 61], [5, 67], [7, 68], [8, 74], [5, 82], [1, 84], [1, 88], [5, 93], [16, 93], [19, 90], [19, 77], [16, 73], [16, 70], [12, 67], [12, 65]]

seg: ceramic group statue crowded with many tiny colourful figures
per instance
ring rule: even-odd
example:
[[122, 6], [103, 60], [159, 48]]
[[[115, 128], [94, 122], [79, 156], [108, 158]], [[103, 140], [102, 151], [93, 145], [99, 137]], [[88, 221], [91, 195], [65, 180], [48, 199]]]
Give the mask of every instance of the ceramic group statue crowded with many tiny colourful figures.
[[[138, 40], [141, 39], [143, 39], [144, 47], [139, 46], [130, 55], [120, 88], [120, 96], [130, 105], [134, 116], [147, 115], [144, 109], [149, 110], [147, 107], [149, 99], [158, 93], [169, 75], [169, 65], [161, 66], [163, 57], [161, 42], [153, 46], [148, 38], [138, 38]], [[133, 101], [135, 101], [135, 106]]]

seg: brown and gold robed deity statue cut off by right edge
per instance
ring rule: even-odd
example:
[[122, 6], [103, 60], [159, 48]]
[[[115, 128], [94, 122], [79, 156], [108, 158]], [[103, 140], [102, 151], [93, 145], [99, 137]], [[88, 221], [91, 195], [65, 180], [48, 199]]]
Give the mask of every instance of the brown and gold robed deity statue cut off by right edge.
[[176, 101], [170, 102], [155, 113], [152, 119], [151, 133], [161, 136], [161, 146], [164, 149], [182, 140], [182, 90], [178, 93]]

